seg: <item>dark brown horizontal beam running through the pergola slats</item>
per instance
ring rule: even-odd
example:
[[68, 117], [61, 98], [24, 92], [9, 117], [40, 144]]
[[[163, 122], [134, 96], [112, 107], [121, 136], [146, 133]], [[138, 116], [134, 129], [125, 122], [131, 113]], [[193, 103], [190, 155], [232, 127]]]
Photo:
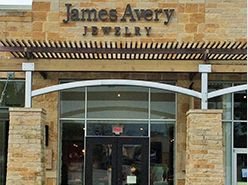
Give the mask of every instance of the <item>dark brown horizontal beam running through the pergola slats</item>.
[[[247, 54], [246, 48], [208, 48], [209, 54]], [[0, 46], [0, 52], [101, 53], [101, 54], [204, 54], [206, 48], [77, 48]]]

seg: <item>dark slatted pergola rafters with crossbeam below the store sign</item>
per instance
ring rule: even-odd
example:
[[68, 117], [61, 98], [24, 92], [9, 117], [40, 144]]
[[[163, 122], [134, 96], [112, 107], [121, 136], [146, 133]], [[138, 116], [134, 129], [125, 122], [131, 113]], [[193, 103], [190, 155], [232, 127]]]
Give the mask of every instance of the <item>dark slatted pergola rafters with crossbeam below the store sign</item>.
[[0, 40], [0, 52], [28, 59], [246, 60], [246, 42], [138, 43]]

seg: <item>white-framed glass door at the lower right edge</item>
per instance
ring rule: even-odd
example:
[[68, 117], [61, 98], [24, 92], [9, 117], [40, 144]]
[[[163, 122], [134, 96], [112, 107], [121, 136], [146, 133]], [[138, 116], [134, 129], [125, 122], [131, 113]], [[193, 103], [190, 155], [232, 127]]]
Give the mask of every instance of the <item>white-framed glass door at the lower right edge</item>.
[[247, 153], [246, 151], [234, 152], [234, 185], [247, 184]]

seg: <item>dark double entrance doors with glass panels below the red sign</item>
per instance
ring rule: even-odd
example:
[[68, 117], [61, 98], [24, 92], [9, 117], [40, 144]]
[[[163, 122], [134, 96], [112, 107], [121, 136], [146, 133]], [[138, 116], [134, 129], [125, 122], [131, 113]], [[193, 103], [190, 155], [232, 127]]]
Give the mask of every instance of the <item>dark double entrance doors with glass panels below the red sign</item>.
[[148, 138], [87, 137], [87, 185], [148, 185]]

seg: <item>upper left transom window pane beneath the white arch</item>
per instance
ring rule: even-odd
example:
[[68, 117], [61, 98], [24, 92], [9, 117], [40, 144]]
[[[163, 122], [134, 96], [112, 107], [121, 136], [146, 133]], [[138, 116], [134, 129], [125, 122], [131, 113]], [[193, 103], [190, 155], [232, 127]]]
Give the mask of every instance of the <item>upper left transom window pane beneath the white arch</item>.
[[61, 91], [61, 118], [84, 118], [84, 88]]

